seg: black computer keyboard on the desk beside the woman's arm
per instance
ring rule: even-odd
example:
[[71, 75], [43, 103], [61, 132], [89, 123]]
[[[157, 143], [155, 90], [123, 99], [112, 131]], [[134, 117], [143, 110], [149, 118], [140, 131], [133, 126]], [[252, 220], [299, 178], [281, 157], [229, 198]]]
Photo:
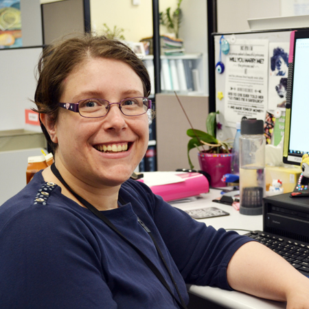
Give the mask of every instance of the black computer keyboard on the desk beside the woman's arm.
[[245, 235], [258, 240], [261, 244], [275, 251], [297, 271], [309, 277], [309, 244], [307, 242], [299, 242], [262, 231], [251, 231]]

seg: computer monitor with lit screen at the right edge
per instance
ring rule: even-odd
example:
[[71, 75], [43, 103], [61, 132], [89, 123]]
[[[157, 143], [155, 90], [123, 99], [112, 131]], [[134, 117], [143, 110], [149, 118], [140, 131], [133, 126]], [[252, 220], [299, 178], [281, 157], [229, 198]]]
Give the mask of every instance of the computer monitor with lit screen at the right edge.
[[290, 34], [283, 161], [300, 165], [309, 154], [309, 30]]

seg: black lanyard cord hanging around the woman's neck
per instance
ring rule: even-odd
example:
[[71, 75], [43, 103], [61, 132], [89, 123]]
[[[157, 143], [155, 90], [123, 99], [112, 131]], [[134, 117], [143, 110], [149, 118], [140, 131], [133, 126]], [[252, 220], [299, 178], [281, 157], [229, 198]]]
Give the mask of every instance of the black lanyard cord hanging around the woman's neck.
[[[141, 222], [141, 220], [137, 217], [137, 220], [139, 221], [139, 224], [147, 231], [149, 236], [152, 238], [152, 241], [155, 244], [155, 247], [156, 247], [156, 249], [157, 249], [157, 251], [158, 251], [158, 253], [159, 253], [160, 257], [161, 257], [161, 260], [163, 261], [163, 264], [165, 265], [165, 268], [167, 269], [168, 274], [170, 275], [170, 278], [172, 279], [172, 282], [173, 282], [173, 284], [174, 284], [174, 286], [176, 288], [177, 294], [179, 295], [180, 301], [175, 297], [174, 293], [172, 293], [172, 290], [170, 289], [170, 286], [168, 286], [168, 283], [165, 281], [163, 275], [160, 273], [160, 271], [157, 268], [157, 266], [155, 266], [155, 264], [153, 264], [150, 261], [150, 259], [141, 250], [139, 250], [135, 246], [135, 244], [130, 242], [130, 240], [128, 240], [126, 238], [126, 236], [124, 236], [117, 229], [117, 227], [115, 227], [115, 225], [113, 225], [113, 223], [110, 220], [108, 220], [108, 218], [106, 218], [106, 216], [104, 216], [102, 214], [101, 211], [96, 209], [91, 203], [86, 201], [84, 198], [82, 198], [82, 196], [78, 195], [76, 192], [74, 192], [71, 189], [71, 187], [69, 187], [69, 185], [65, 182], [65, 180], [62, 178], [60, 172], [56, 168], [55, 163], [52, 163], [51, 169], [52, 169], [52, 172], [54, 173], [54, 175], [60, 180], [62, 185], [64, 185], [67, 188], [67, 190], [69, 190], [69, 192], [71, 192], [71, 194], [73, 194], [73, 196], [75, 196], [78, 199], [78, 201], [80, 201], [80, 203], [82, 203], [82, 205], [86, 206], [93, 214], [95, 214], [95, 216], [98, 216], [98, 218], [100, 218], [103, 222], [105, 222], [106, 225], [108, 225], [108, 227], [113, 229], [113, 231], [115, 231], [123, 240], [125, 240], [128, 244], [130, 244], [130, 246], [133, 247], [133, 249], [135, 249], [135, 251], [137, 251], [137, 253], [139, 253], [139, 256], [141, 257], [142, 260], [144, 260], [144, 262], [150, 268], [152, 273], [154, 273], [157, 276], [157, 278], [160, 280], [160, 282], [163, 284], [163, 286], [165, 286], [165, 288], [168, 290], [170, 295], [172, 295], [172, 297], [174, 297], [174, 299], [175, 299], [176, 303], [178, 304], [178, 306], [180, 306], [180, 308], [187, 309], [187, 306], [185, 305], [185, 301], [183, 300], [183, 297], [181, 297], [181, 293], [179, 292], [179, 288], [178, 288], [178, 286], [177, 286], [177, 284], [176, 284], [176, 282], [174, 280], [174, 277], [172, 276], [172, 273], [170, 272], [170, 269], [168, 268], [168, 264], [165, 262], [165, 258], [163, 257], [163, 254], [162, 254], [161, 250], [159, 249], [159, 245], [157, 244], [157, 241], [155, 240], [155, 238], [152, 236], [152, 233], [150, 232], [148, 227], [146, 227], [146, 225], [144, 225], [144, 222]], [[124, 202], [124, 200], [122, 199], [121, 196], [119, 196], [119, 201], [122, 204], [126, 203], [126, 202]]]

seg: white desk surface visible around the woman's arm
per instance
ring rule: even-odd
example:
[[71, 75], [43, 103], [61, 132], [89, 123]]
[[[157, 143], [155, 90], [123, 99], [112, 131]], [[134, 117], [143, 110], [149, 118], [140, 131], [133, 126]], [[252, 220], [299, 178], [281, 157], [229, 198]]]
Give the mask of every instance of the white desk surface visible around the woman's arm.
[[[204, 194], [203, 198], [198, 198], [195, 201], [185, 203], [172, 203], [174, 207], [183, 210], [199, 209], [205, 207], [217, 207], [227, 211], [229, 216], [214, 217], [207, 219], [200, 219], [198, 221], [205, 222], [206, 225], [211, 225], [216, 229], [223, 227], [225, 229], [233, 229], [238, 233], [243, 234], [247, 231], [260, 230], [262, 231], [263, 222], [262, 215], [260, 216], [244, 216], [236, 209], [229, 205], [214, 203], [212, 200], [220, 196], [220, 190], [210, 190], [208, 194]], [[239, 230], [238, 230], [239, 229]], [[247, 230], [247, 231], [242, 231]], [[237, 309], [281, 309], [286, 308], [286, 303], [278, 301], [269, 301], [260, 299], [245, 293], [237, 291], [222, 290], [220, 288], [213, 288], [210, 286], [188, 286], [190, 293], [214, 301], [216, 304], [226, 308]]]

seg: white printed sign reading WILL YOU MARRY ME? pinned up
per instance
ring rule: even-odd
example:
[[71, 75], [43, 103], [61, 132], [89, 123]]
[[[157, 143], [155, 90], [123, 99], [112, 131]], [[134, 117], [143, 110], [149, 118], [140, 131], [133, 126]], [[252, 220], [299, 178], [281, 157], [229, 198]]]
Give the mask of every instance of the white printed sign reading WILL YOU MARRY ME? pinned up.
[[267, 106], [268, 40], [239, 39], [226, 58], [225, 120], [264, 120]]

